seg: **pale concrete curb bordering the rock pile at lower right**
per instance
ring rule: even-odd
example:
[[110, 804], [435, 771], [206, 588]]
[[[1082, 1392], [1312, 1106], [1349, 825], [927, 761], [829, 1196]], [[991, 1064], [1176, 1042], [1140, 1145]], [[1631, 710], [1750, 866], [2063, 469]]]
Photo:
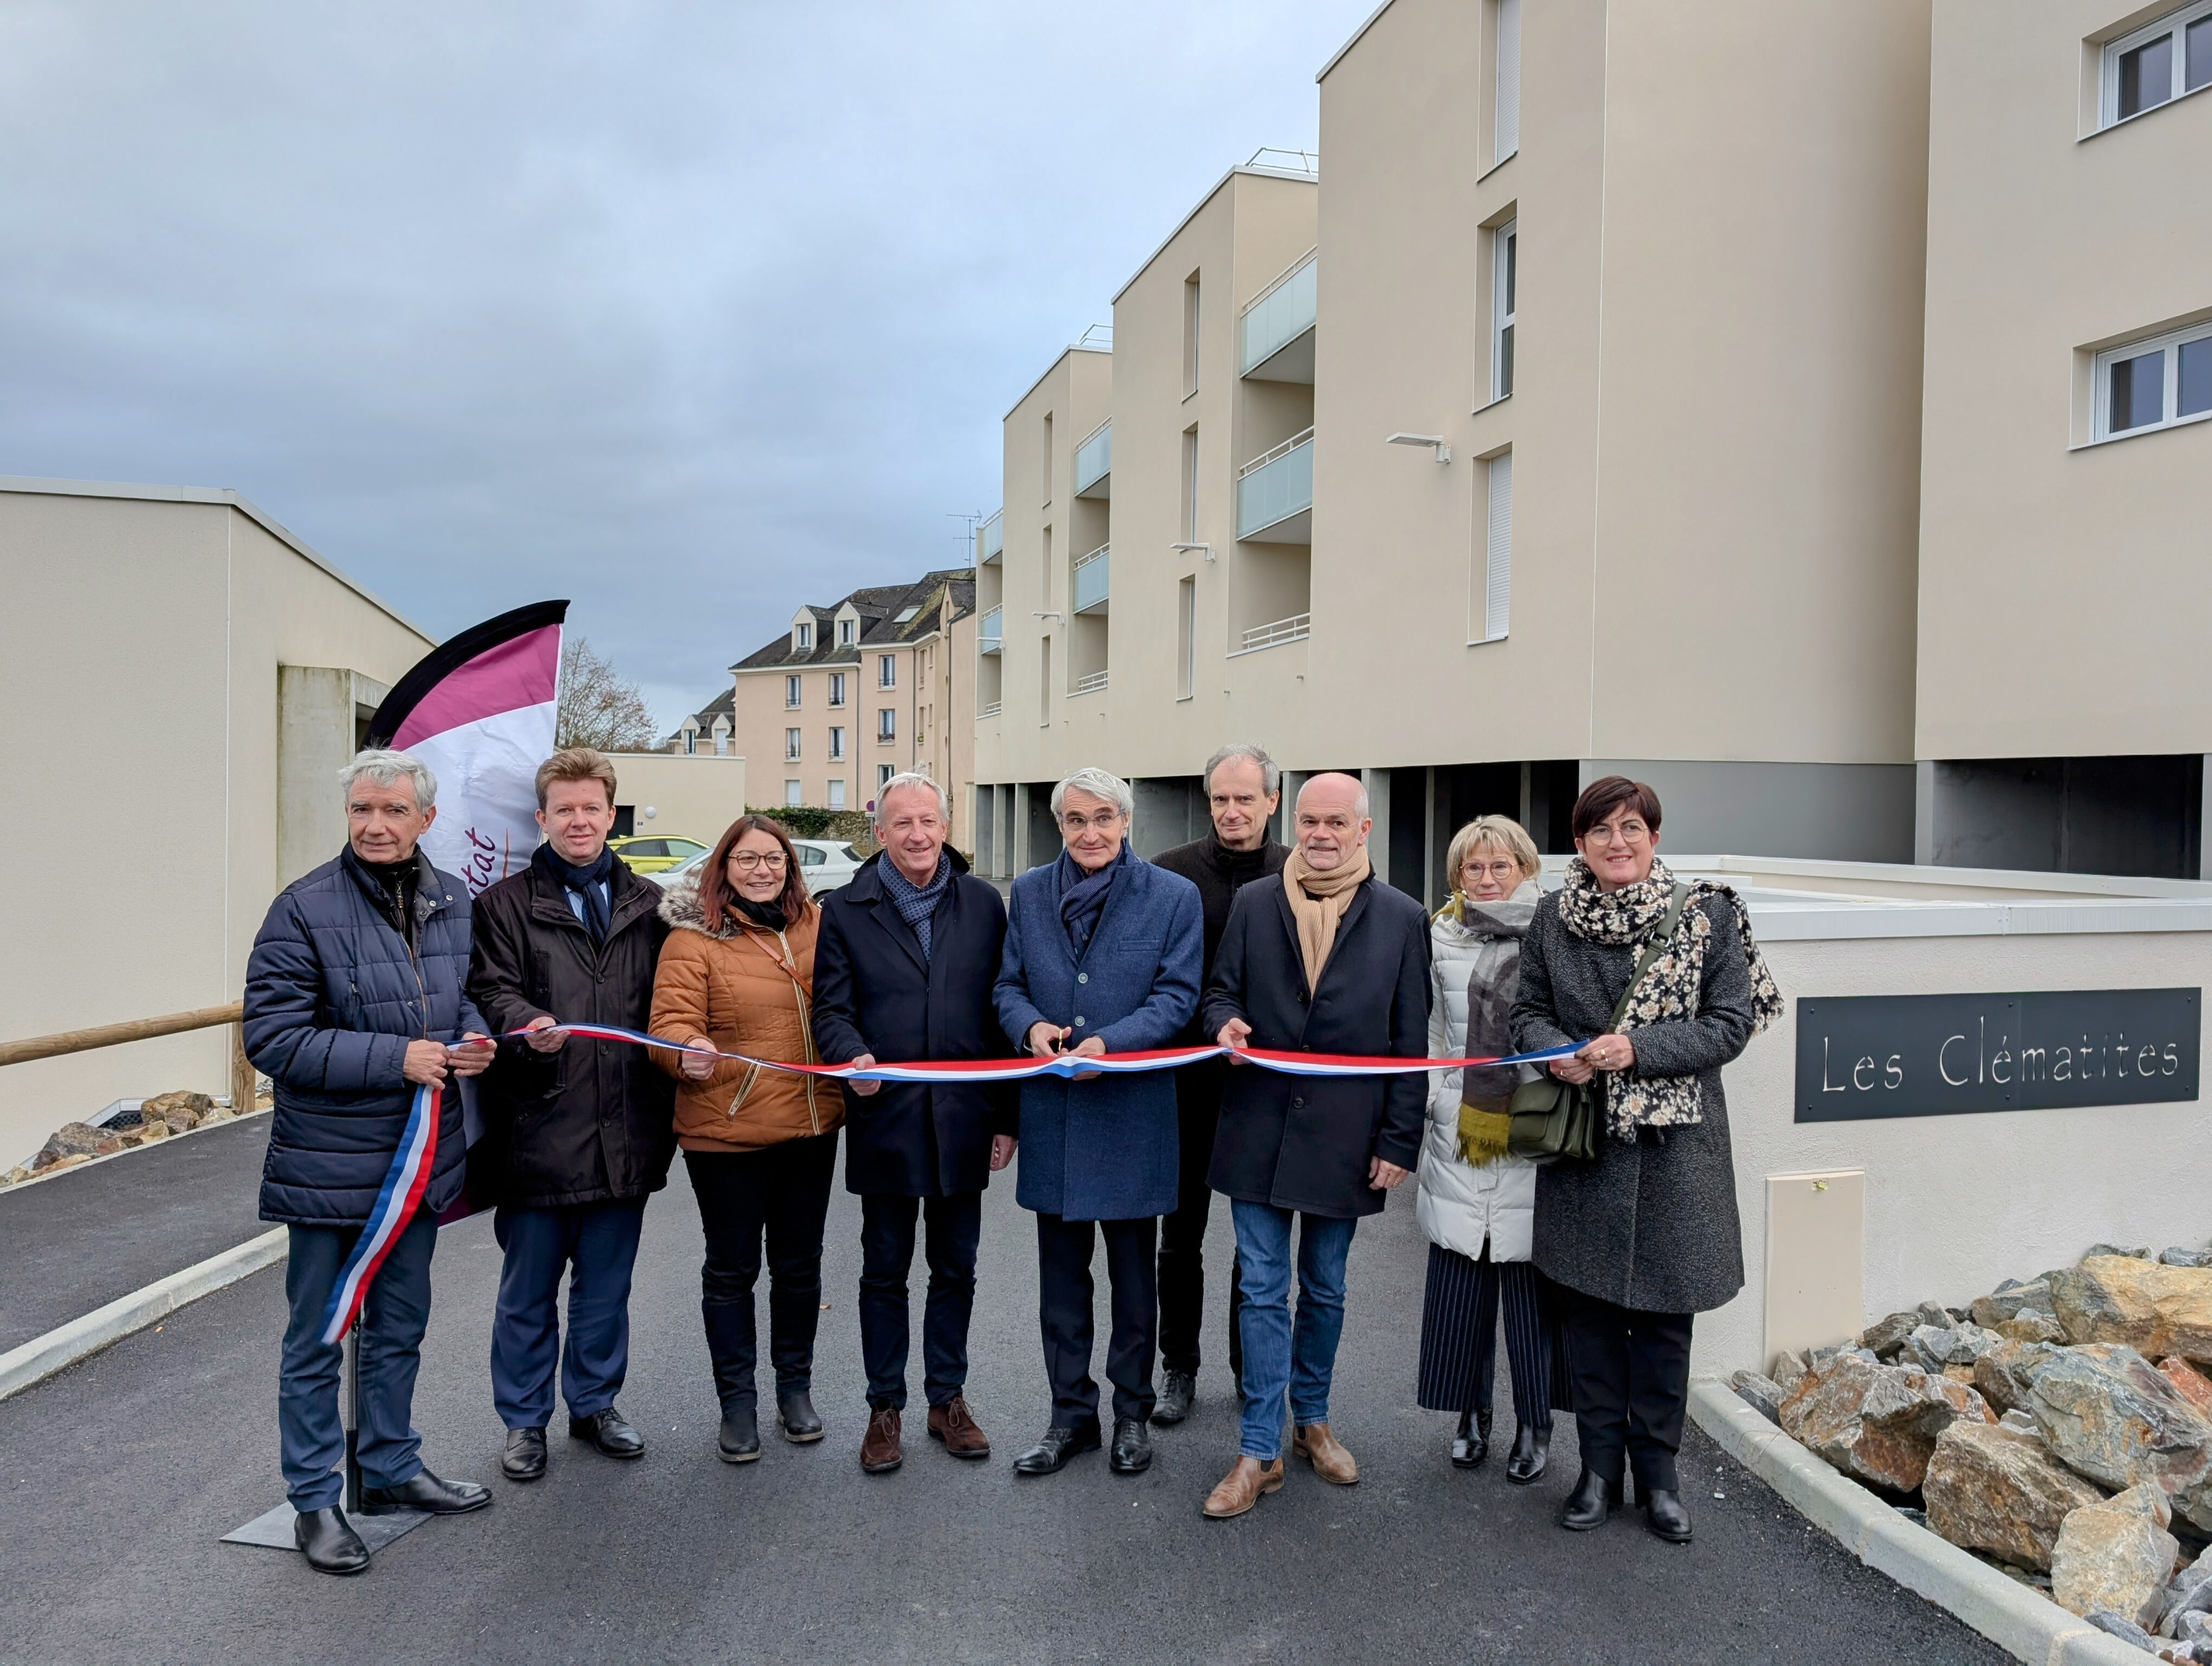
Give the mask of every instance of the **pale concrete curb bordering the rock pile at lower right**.
[[1958, 1615], [2015, 1659], [2031, 1666], [2143, 1666], [2154, 1659], [1905, 1520], [1759, 1416], [1725, 1383], [1710, 1376], [1692, 1383], [1690, 1416], [1730, 1458], [1869, 1569]]

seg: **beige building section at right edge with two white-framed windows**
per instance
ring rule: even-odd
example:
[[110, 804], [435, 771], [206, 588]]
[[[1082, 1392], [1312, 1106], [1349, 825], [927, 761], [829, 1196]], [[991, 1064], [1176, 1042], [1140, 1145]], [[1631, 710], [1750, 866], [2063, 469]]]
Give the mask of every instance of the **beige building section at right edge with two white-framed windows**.
[[1920, 861], [2212, 878], [2212, 2], [1940, 0]]

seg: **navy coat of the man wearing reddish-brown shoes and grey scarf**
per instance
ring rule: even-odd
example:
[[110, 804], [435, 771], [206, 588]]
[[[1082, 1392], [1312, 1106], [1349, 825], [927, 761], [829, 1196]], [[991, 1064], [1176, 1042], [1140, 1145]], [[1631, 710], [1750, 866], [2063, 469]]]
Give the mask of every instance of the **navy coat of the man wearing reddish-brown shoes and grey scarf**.
[[[887, 852], [823, 898], [814, 943], [814, 1051], [827, 1064], [1009, 1058], [991, 989], [1006, 947], [998, 887], [945, 847], [951, 876], [929, 916], [929, 956], [891, 903]], [[991, 1137], [1020, 1122], [1013, 1082], [845, 1086], [845, 1190], [953, 1197], [991, 1184]]]

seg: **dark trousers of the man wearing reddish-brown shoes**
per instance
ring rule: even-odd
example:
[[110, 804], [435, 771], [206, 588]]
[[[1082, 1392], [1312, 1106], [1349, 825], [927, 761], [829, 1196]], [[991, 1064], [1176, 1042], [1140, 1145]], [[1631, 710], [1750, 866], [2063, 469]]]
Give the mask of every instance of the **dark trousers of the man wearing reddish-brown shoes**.
[[860, 1197], [860, 1361], [867, 1405], [907, 1409], [907, 1268], [914, 1221], [927, 1221], [929, 1299], [922, 1303], [922, 1394], [945, 1405], [967, 1387], [967, 1325], [975, 1310], [982, 1193]]

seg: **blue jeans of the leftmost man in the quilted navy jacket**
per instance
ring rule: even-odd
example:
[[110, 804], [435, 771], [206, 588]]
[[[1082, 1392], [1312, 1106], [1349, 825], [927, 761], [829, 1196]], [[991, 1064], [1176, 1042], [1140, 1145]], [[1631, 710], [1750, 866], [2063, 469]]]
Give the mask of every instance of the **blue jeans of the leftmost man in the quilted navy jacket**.
[[[292, 1509], [332, 1509], [345, 1498], [345, 1425], [338, 1420], [338, 1370], [345, 1350], [323, 1343], [323, 1312], [338, 1268], [361, 1237], [358, 1226], [294, 1226], [283, 1294], [292, 1316], [283, 1327], [276, 1376], [276, 1438]], [[422, 1436], [414, 1431], [414, 1378], [429, 1325], [429, 1259], [438, 1217], [418, 1208], [392, 1243], [385, 1266], [361, 1303], [361, 1482], [398, 1487], [422, 1469]]]

